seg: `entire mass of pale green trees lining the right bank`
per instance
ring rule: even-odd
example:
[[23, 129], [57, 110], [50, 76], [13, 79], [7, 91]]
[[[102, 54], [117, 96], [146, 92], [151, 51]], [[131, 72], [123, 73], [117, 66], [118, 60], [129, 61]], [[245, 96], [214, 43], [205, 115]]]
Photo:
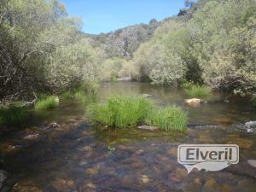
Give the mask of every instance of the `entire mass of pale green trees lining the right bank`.
[[256, 2], [201, 0], [164, 20], [139, 46], [132, 77], [155, 84], [184, 79], [245, 95], [256, 89]]

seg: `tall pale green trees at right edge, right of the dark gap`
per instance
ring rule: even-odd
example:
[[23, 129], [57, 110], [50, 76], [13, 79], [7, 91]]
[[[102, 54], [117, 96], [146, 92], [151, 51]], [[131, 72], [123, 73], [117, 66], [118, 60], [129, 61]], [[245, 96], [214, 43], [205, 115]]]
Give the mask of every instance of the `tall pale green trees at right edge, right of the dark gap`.
[[255, 7], [251, 0], [207, 1], [189, 21], [191, 55], [207, 84], [240, 93], [253, 90], [256, 47], [251, 10]]

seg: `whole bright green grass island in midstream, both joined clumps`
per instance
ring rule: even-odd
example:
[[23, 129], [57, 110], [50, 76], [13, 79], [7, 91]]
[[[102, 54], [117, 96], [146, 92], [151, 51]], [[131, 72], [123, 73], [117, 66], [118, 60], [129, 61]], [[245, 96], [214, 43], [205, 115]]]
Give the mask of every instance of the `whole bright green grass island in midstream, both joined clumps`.
[[183, 131], [187, 124], [187, 113], [181, 108], [156, 108], [143, 96], [112, 96], [104, 104], [92, 103], [88, 113], [94, 124], [110, 128], [147, 124], [164, 131]]

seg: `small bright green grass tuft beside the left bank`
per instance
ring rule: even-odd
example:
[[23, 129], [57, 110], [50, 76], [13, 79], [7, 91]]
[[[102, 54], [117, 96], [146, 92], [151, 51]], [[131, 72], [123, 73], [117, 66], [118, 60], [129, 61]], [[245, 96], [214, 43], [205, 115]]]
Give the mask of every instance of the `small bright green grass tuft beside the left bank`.
[[50, 108], [56, 108], [58, 105], [58, 102], [56, 101], [55, 96], [46, 96], [44, 98], [41, 98], [36, 102], [35, 108], [37, 110], [41, 109], [50, 109]]

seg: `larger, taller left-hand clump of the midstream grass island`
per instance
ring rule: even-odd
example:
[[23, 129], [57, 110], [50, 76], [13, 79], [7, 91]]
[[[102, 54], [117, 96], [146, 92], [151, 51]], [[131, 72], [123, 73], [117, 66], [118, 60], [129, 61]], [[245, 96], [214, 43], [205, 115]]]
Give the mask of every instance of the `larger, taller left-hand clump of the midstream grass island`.
[[143, 121], [151, 107], [143, 96], [112, 96], [104, 104], [91, 104], [88, 112], [96, 124], [125, 128]]

